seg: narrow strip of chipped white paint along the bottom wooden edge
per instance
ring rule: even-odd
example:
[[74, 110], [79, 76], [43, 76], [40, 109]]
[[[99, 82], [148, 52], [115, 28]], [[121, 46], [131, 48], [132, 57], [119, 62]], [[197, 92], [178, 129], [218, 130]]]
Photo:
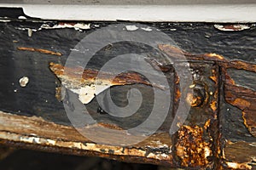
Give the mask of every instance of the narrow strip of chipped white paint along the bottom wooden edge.
[[113, 154], [115, 156], [139, 156], [151, 158], [159, 161], [171, 161], [172, 156], [166, 153], [155, 154], [150, 152], [147, 156], [147, 150], [136, 149], [136, 148], [123, 148], [118, 146], [94, 144], [94, 143], [82, 143], [74, 141], [63, 141], [63, 140], [53, 140], [46, 139], [37, 136], [21, 135], [17, 133], [10, 132], [0, 132], [0, 139], [11, 140], [14, 142], [21, 142], [26, 144], [40, 144], [44, 146], [55, 146], [74, 150], [86, 150], [86, 151], [96, 151], [102, 154]]

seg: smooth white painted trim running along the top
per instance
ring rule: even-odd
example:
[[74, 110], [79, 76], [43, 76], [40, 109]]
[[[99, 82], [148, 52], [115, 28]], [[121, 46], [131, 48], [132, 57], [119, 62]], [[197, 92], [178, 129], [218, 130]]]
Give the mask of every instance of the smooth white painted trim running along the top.
[[44, 20], [256, 22], [256, 3], [175, 5], [78, 5], [0, 3]]

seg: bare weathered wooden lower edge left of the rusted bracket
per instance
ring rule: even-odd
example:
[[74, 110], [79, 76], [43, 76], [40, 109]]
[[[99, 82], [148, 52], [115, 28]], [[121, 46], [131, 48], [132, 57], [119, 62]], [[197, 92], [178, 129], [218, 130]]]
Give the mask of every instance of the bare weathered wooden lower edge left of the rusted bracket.
[[[40, 117], [0, 111], [0, 143], [23, 148], [173, 166], [172, 145], [165, 143], [165, 138], [170, 140], [168, 134], [155, 134], [140, 144], [127, 147], [95, 144], [73, 127], [46, 122]], [[160, 148], [163, 147], [167, 151], [162, 152]]]

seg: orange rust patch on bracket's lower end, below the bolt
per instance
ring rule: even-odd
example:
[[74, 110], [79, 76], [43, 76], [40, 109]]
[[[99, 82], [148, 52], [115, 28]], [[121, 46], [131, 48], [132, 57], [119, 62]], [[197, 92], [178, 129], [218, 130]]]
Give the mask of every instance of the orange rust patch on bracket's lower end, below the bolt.
[[176, 154], [183, 167], [203, 167], [212, 156], [211, 144], [203, 139], [202, 127], [183, 126], [177, 133]]

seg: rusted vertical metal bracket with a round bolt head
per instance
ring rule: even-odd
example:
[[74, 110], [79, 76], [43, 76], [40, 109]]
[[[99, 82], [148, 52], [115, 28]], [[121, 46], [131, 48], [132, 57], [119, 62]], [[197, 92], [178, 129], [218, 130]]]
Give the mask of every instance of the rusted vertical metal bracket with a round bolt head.
[[189, 116], [175, 139], [177, 161], [183, 167], [213, 168], [218, 147], [218, 65], [194, 61], [190, 68], [194, 96]]

